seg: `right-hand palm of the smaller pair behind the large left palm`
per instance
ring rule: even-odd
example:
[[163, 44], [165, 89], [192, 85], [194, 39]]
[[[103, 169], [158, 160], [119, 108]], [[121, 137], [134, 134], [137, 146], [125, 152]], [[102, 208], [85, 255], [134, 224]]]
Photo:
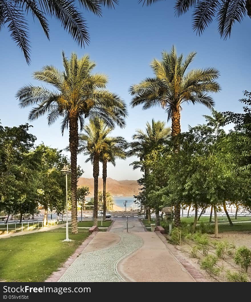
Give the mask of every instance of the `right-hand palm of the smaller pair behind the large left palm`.
[[106, 177], [107, 177], [107, 163], [110, 162], [116, 165], [116, 158], [126, 159], [127, 142], [123, 137], [107, 137], [109, 143], [103, 148], [101, 154], [101, 162], [103, 164], [103, 220], [106, 220]]

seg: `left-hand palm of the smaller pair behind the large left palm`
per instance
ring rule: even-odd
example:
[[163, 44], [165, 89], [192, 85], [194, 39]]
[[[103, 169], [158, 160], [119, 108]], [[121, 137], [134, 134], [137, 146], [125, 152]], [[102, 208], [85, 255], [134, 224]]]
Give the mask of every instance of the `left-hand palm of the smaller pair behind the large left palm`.
[[[107, 127], [102, 121], [91, 121], [83, 129], [83, 133], [79, 135], [79, 153], [89, 156], [86, 162], [91, 161], [93, 164], [93, 178], [94, 178], [94, 225], [97, 225], [97, 211], [98, 211], [98, 176], [99, 176], [99, 162], [111, 146], [113, 140], [108, 137], [112, 128]], [[122, 140], [122, 138], [121, 138]]]

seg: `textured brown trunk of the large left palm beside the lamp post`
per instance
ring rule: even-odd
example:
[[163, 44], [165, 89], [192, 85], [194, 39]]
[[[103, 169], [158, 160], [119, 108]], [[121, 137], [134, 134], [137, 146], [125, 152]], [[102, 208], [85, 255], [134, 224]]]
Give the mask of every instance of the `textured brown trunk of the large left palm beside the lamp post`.
[[69, 118], [69, 149], [71, 152], [71, 233], [78, 233], [77, 212], [77, 152], [78, 152], [78, 118]]

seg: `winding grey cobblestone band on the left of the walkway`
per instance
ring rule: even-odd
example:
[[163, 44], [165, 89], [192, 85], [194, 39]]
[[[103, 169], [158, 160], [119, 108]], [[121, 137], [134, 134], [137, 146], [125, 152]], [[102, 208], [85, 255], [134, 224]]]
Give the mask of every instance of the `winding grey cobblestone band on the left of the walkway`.
[[117, 264], [140, 248], [143, 241], [133, 234], [117, 234], [121, 238], [119, 243], [94, 252], [82, 252], [58, 282], [125, 282]]

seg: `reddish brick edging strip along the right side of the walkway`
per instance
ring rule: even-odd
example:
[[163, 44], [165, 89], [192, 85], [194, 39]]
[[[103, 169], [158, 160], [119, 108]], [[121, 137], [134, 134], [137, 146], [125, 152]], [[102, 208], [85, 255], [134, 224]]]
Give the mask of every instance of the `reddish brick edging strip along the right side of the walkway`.
[[184, 259], [180, 255], [180, 252], [177, 251], [174, 246], [172, 246], [170, 243], [167, 242], [167, 239], [163, 234], [161, 234], [160, 232], [155, 232], [155, 233], [161, 239], [161, 241], [164, 243], [164, 245], [167, 247], [167, 249], [173, 255], [173, 257], [178, 262], [180, 262], [180, 264], [186, 269], [186, 271], [192, 276], [192, 278], [196, 282], [209, 282], [192, 264], [190, 264], [186, 259]]

